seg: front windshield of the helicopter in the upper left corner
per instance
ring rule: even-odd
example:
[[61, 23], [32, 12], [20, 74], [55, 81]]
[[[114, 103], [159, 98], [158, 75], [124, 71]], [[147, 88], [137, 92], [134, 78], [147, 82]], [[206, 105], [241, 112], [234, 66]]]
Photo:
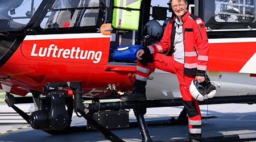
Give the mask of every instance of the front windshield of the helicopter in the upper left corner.
[[0, 0], [0, 32], [27, 26], [42, 0]]

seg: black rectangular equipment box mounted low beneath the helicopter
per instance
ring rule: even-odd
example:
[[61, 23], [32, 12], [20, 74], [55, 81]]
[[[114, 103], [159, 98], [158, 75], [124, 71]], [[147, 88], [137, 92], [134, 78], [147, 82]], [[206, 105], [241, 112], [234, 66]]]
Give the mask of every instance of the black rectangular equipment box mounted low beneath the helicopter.
[[[104, 111], [92, 115], [96, 122], [107, 129], [129, 127], [129, 111]], [[87, 122], [88, 130], [96, 130], [90, 122]]]

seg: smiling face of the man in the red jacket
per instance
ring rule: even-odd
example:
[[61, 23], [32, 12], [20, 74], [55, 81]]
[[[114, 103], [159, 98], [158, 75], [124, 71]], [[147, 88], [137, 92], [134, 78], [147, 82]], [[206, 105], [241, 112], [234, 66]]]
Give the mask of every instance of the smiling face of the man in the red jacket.
[[188, 3], [185, 3], [184, 0], [172, 0], [171, 4], [172, 10], [174, 10], [175, 15], [179, 18], [187, 11]]

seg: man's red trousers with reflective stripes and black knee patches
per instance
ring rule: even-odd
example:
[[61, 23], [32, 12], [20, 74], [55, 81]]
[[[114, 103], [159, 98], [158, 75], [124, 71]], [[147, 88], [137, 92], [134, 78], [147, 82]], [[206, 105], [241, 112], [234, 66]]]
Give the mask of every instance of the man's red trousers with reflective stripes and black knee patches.
[[189, 92], [189, 83], [195, 76], [184, 74], [184, 64], [174, 60], [172, 56], [166, 56], [160, 53], [154, 53], [154, 62], [147, 63], [143, 66], [141, 62], [137, 62], [136, 79], [147, 81], [147, 77], [154, 72], [155, 68], [166, 72], [174, 73], [177, 76], [180, 86], [180, 93], [184, 100], [184, 107], [188, 113], [189, 119], [189, 138], [201, 139], [201, 113], [199, 103], [191, 96]]

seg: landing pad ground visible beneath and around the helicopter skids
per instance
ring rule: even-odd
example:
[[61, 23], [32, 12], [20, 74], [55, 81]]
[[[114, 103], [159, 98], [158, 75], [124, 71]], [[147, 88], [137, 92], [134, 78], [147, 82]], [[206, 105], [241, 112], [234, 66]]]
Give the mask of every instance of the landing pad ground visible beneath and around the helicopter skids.
[[[20, 105], [22, 110], [30, 109], [30, 105]], [[180, 107], [159, 107], [147, 108], [144, 115], [146, 122], [151, 120], [167, 120], [178, 116], [183, 109]], [[9, 110], [6, 105], [0, 105], [0, 113]], [[202, 133], [204, 141], [253, 141], [256, 140], [256, 105], [247, 104], [222, 104], [222, 105], [201, 105], [202, 116], [216, 116], [217, 118], [203, 119]], [[27, 111], [28, 112], [28, 111]], [[129, 112], [129, 121], [136, 122], [133, 110]], [[27, 123], [9, 124], [0, 123], [0, 141], [109, 141], [98, 131], [86, 131], [70, 133], [65, 135], [49, 135], [40, 130], [33, 130]], [[86, 126], [86, 120], [75, 114], [72, 119], [72, 126]], [[154, 141], [186, 141], [188, 126], [166, 125], [148, 126], [151, 139]], [[122, 128], [111, 130], [123, 141], [142, 141], [139, 128]], [[210, 140], [212, 137], [220, 139]], [[230, 139], [230, 137], [233, 137]], [[237, 139], [234, 139], [237, 138]], [[250, 138], [250, 139], [249, 139]]]

